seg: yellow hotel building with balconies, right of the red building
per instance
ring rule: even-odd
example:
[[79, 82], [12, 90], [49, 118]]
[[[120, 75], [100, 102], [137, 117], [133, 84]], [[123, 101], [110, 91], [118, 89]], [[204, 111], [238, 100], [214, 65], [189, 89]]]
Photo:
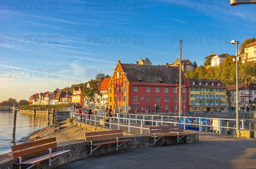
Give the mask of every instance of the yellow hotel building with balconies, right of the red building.
[[191, 112], [226, 111], [227, 87], [220, 80], [187, 79], [190, 91]]

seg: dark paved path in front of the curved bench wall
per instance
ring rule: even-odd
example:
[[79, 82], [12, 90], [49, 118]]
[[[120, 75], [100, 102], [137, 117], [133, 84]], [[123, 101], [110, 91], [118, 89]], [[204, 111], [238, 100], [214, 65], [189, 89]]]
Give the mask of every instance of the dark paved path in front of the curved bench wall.
[[256, 169], [256, 140], [200, 132], [198, 143], [122, 150], [58, 169]]

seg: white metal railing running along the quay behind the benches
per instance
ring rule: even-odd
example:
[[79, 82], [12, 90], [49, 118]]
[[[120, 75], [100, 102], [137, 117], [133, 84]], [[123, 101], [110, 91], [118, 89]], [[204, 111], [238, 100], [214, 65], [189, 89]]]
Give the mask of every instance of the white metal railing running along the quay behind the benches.
[[[90, 119], [89, 119], [90, 116]], [[96, 126], [97, 122], [102, 123], [103, 128], [107, 122], [105, 122], [105, 114], [104, 112], [97, 112], [96, 115], [85, 115], [79, 114], [78, 112], [70, 112], [70, 118], [74, 119], [81, 123], [90, 123], [90, 125]], [[190, 123], [187, 118], [196, 121], [196, 123]], [[180, 120], [177, 120], [180, 119]], [[182, 119], [182, 120], [181, 120]], [[203, 119], [203, 120], [202, 120]], [[207, 120], [205, 122], [204, 120]], [[211, 121], [210, 123], [208, 121]], [[202, 132], [218, 132], [219, 134], [227, 133], [231, 134], [230, 129], [233, 130], [235, 134], [236, 126], [224, 126], [223, 123], [236, 123], [236, 119], [225, 119], [225, 118], [209, 118], [209, 117], [184, 117], [184, 116], [166, 116], [166, 115], [148, 115], [148, 114], [127, 114], [127, 118], [125, 113], [113, 113], [113, 117], [109, 119], [108, 124], [110, 128], [112, 126], [117, 126], [120, 129], [120, 126], [124, 126], [128, 128], [128, 132], [130, 133], [132, 129], [140, 129], [141, 135], [143, 135], [143, 129], [148, 130], [148, 126], [159, 126], [159, 125], [174, 125], [174, 126], [183, 126], [183, 129], [189, 129], [189, 127], [193, 127], [196, 130]], [[240, 121], [240, 129], [245, 129], [244, 122], [246, 120]], [[121, 123], [127, 122], [127, 123]], [[140, 124], [140, 125], [138, 125]], [[144, 126], [147, 125], [147, 126]], [[232, 125], [232, 124], [231, 124]], [[251, 125], [250, 125], [251, 126]], [[209, 129], [208, 129], [209, 128]], [[250, 128], [250, 127], [249, 127]]]

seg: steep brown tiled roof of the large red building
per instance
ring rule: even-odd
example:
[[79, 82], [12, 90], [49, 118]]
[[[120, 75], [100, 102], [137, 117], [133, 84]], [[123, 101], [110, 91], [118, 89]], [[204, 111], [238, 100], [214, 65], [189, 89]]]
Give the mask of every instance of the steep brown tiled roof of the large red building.
[[[140, 83], [168, 83], [177, 84], [179, 80], [179, 69], [175, 66], [151, 66], [138, 64], [121, 64], [124, 72], [128, 73], [128, 80], [130, 82]], [[182, 77], [182, 83], [184, 79]]]

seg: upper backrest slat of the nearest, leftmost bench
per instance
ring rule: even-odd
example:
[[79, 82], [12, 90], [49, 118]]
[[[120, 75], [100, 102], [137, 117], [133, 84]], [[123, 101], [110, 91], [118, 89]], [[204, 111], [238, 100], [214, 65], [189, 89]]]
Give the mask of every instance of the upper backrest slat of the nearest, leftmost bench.
[[34, 146], [39, 146], [42, 144], [52, 143], [52, 142], [56, 142], [56, 137], [12, 146], [12, 152], [15, 152], [15, 151], [21, 150], [21, 149], [27, 149], [27, 148], [34, 147]]

